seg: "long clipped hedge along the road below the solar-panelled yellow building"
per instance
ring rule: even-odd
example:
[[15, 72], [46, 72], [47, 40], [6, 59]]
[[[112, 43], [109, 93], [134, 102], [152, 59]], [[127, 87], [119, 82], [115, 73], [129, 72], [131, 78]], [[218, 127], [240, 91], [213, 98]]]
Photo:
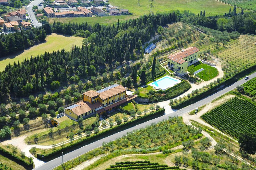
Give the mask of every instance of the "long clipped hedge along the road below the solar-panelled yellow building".
[[123, 129], [129, 128], [130, 126], [134, 126], [135, 123], [146, 121], [148, 118], [151, 118], [151, 117], [153, 117], [153, 118], [159, 117], [161, 114], [164, 113], [164, 111], [165, 111], [165, 109], [162, 108], [162, 109], [154, 111], [154, 112], [152, 112], [150, 114], [146, 114], [144, 116], [138, 117], [137, 119], [132, 119], [132, 120], [130, 120], [128, 122], [123, 122], [122, 124], [119, 124], [117, 126], [113, 126], [112, 128], [109, 128], [109, 129], [100, 131], [99, 133], [93, 134], [90, 137], [78, 140], [78, 141], [76, 141], [74, 143], [71, 143], [71, 144], [69, 144], [67, 146], [63, 146], [62, 148], [55, 149], [54, 151], [45, 154], [44, 157], [42, 157], [42, 154], [37, 154], [37, 158], [40, 158], [40, 159], [45, 160], [45, 161], [46, 160], [52, 160], [58, 154], [60, 155], [61, 152], [68, 153], [68, 150], [71, 150], [71, 149], [74, 150], [78, 146], [81, 147], [81, 145], [88, 144], [89, 142], [94, 142], [94, 141], [97, 141], [99, 139], [104, 138], [105, 136], [109, 136], [111, 134], [120, 132]]

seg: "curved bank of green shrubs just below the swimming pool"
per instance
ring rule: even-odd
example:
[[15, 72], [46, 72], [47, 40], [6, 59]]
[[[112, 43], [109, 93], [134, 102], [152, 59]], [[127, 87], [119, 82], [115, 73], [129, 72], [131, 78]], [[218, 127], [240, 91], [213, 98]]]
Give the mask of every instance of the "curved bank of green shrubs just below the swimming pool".
[[191, 85], [188, 81], [182, 80], [181, 83], [174, 85], [173, 87], [170, 87], [166, 90], [158, 90], [156, 91], [151, 97], [150, 101], [164, 101], [168, 100], [174, 97], [177, 97], [179, 95], [182, 95], [187, 90], [191, 88]]

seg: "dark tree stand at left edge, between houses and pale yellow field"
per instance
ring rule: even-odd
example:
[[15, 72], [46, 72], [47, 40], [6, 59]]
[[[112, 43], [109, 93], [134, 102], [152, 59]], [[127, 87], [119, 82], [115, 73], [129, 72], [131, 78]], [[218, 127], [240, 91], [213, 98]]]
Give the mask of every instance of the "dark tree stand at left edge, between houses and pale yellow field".
[[30, 30], [22, 30], [8, 35], [0, 34], [0, 53], [1, 56], [22, 51], [32, 47], [40, 42], [44, 42], [46, 32], [44, 29], [32, 28]]

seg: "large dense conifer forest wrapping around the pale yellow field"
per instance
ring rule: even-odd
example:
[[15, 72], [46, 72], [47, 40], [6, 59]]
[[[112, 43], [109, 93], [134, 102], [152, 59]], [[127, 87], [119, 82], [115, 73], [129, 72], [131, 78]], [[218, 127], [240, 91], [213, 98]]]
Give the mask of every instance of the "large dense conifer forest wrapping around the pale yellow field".
[[[82, 47], [75, 46], [70, 51], [63, 49], [52, 53], [45, 52], [36, 57], [27, 58], [21, 63], [7, 65], [0, 73], [0, 101], [3, 101], [9, 94], [15, 97], [28, 96], [45, 87], [55, 87], [57, 81], [66, 83], [74, 75], [87, 78], [96, 76], [96, 72], [102, 74], [107, 71], [106, 63], [109, 63], [111, 67], [115, 61], [121, 63], [129, 60], [134, 50], [142, 50], [142, 44], [155, 34], [160, 25], [166, 25], [176, 19], [176, 14], [170, 12], [144, 15], [137, 19], [118, 22], [113, 26], [60, 22], [49, 25], [46, 23], [42, 26], [41, 32], [45, 30], [46, 33], [73, 35], [80, 30], [80, 32], [89, 32], [89, 36], [83, 40]], [[36, 31], [36, 34], [40, 32], [38, 29], [32, 31]], [[8, 36], [18, 35], [26, 37], [27, 32]], [[8, 41], [3, 42], [8, 43]]]

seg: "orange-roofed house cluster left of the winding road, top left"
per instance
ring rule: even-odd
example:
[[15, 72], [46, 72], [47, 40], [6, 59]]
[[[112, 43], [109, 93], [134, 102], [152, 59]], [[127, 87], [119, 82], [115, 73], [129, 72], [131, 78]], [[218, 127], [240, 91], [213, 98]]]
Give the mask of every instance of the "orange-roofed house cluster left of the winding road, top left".
[[26, 19], [26, 9], [20, 9], [14, 12], [10, 12], [4, 16], [4, 19], [0, 19], [0, 26], [3, 27], [5, 32], [18, 31], [22, 29], [30, 29], [31, 23], [25, 22]]

